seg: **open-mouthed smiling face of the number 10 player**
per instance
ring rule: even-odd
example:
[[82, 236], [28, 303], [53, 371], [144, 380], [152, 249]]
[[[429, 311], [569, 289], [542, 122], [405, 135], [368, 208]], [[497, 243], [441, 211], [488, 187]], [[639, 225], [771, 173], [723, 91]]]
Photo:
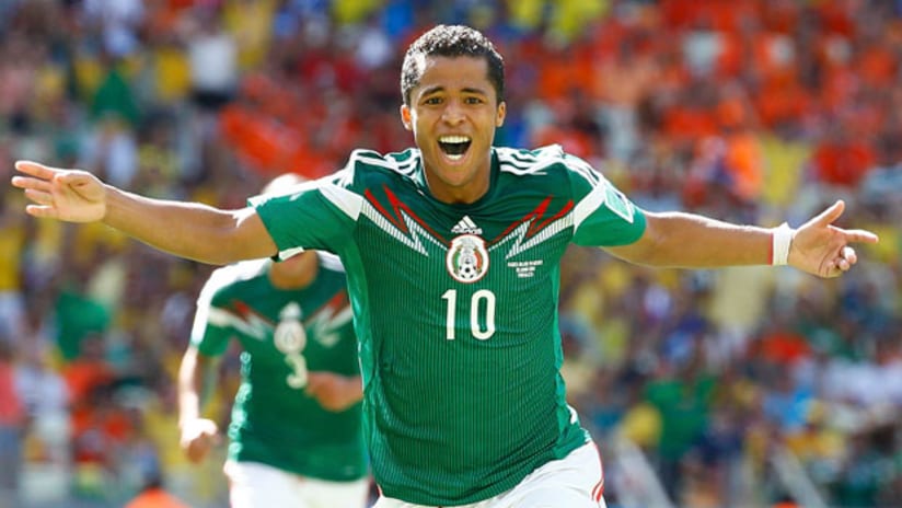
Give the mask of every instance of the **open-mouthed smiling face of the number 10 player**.
[[401, 106], [404, 127], [423, 152], [429, 189], [446, 203], [473, 203], [488, 189], [492, 141], [506, 106], [487, 66], [484, 58], [428, 57], [410, 104]]

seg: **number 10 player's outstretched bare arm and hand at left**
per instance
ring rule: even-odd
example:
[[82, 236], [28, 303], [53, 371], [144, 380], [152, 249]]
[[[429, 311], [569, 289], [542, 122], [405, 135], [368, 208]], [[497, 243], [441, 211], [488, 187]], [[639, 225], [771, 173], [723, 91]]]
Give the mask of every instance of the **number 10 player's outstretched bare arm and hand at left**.
[[12, 185], [32, 201], [25, 211], [68, 222], [102, 221], [148, 245], [215, 265], [278, 251], [253, 208], [221, 210], [152, 199], [106, 185], [86, 171], [18, 161]]

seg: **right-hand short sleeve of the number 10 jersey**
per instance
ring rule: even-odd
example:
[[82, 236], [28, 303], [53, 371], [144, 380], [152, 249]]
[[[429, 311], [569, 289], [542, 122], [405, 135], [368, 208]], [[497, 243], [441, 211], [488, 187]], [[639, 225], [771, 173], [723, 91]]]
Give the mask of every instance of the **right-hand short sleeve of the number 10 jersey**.
[[637, 241], [645, 213], [588, 162], [564, 155], [573, 192], [574, 239], [577, 245], [617, 246]]

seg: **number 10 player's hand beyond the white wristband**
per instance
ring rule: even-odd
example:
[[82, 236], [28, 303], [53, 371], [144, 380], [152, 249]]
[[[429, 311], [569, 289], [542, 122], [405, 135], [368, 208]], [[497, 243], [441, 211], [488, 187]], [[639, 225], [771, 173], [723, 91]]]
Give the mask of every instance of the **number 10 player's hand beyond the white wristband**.
[[839, 200], [796, 230], [789, 246], [789, 265], [820, 277], [839, 277], [858, 262], [849, 243], [877, 243], [879, 239], [870, 231], [833, 226], [843, 210], [845, 203]]

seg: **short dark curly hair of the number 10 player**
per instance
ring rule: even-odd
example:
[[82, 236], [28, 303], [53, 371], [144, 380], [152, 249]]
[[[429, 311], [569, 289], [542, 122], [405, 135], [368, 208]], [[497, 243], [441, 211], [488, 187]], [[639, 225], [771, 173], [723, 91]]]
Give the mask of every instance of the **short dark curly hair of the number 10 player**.
[[426, 57], [477, 57], [488, 64], [488, 81], [500, 104], [505, 100], [505, 60], [485, 35], [463, 25], [438, 25], [420, 35], [404, 55], [401, 68], [401, 94], [410, 104], [410, 91], [423, 78]]

